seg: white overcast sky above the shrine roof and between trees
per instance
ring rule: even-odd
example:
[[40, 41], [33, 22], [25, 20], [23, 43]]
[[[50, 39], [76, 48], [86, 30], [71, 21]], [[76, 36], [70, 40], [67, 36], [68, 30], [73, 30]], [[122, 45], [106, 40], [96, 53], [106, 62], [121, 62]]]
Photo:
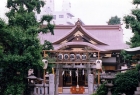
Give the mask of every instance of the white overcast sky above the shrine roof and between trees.
[[[1, 0], [0, 17], [5, 18], [6, 1]], [[82, 19], [86, 25], [107, 25], [107, 21], [112, 16], [118, 16], [123, 20], [125, 15], [131, 13], [131, 9], [135, 8], [132, 5], [132, 0], [69, 0], [71, 3], [71, 13]], [[55, 10], [62, 10], [63, 0], [55, 0]], [[130, 29], [125, 29], [125, 24], [122, 22], [124, 42], [129, 41], [132, 37]]]

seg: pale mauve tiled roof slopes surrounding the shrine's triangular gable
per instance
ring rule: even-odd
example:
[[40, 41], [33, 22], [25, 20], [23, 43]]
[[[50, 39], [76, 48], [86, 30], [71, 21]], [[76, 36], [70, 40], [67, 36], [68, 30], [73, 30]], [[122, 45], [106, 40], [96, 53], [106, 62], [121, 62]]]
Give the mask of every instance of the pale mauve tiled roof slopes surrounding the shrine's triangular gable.
[[[48, 34], [39, 34], [39, 38], [41, 44], [43, 44], [44, 40], [48, 40], [52, 43], [63, 39], [67, 35], [70, 35], [76, 28], [78, 29], [79, 26], [77, 25], [59, 25], [56, 26], [54, 29], [54, 35], [51, 33]], [[123, 31], [120, 25], [84, 25], [80, 26], [84, 32], [90, 35], [93, 39], [105, 43], [106, 45], [93, 45], [86, 42], [76, 43], [76, 42], [68, 42], [67, 45], [72, 44], [83, 44], [89, 45], [98, 50], [121, 50], [128, 48], [129, 46], [123, 43]], [[55, 49], [59, 49], [61, 45], [54, 44]]]

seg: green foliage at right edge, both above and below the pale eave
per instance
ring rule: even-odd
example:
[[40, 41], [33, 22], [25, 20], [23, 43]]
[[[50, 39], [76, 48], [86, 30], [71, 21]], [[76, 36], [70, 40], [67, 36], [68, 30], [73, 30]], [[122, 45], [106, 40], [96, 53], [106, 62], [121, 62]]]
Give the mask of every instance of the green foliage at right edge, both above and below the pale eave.
[[[138, 8], [138, 5], [140, 4], [140, 0], [133, 0], [132, 2], [134, 5], [136, 5], [136, 8], [131, 10], [130, 15], [126, 15], [123, 18], [123, 21], [126, 24], [126, 29], [131, 29], [133, 32], [133, 37], [131, 37], [130, 42], [127, 42], [127, 44], [131, 47], [138, 47], [140, 46], [140, 8]], [[133, 61], [132, 54], [127, 54], [125, 51], [122, 51], [122, 56], [124, 56], [124, 59], [130, 64]], [[125, 53], [124, 53], [125, 52]], [[128, 57], [129, 56], [129, 57]]]

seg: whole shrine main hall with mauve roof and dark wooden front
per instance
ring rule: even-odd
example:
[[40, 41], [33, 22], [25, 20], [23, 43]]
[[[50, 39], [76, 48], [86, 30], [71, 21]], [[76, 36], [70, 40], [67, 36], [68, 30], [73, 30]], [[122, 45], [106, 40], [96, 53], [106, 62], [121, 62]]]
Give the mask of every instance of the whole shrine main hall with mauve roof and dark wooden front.
[[41, 44], [47, 40], [54, 47], [44, 50], [43, 55], [49, 53], [56, 59], [59, 92], [63, 92], [63, 87], [87, 87], [88, 74], [96, 76], [97, 60], [101, 63], [100, 72], [120, 69], [120, 51], [128, 48], [121, 25], [82, 25], [80, 20], [75, 25], [56, 25], [54, 35], [40, 33], [39, 38]]

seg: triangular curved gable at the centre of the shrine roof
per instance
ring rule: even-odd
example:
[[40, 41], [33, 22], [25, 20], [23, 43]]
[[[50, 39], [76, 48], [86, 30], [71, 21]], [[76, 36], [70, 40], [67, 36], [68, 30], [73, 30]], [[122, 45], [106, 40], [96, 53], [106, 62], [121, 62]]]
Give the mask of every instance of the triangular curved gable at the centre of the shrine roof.
[[76, 26], [74, 28], [72, 28], [67, 35], [65, 35], [58, 41], [53, 42], [53, 44], [70, 42], [73, 39], [76, 39], [77, 36], [80, 36], [82, 39], [86, 40], [86, 42], [89, 42], [91, 44], [107, 45], [106, 43], [99, 40], [94, 35], [89, 34], [84, 27], [82, 27], [81, 25], [78, 25], [78, 24], [76, 24]]

